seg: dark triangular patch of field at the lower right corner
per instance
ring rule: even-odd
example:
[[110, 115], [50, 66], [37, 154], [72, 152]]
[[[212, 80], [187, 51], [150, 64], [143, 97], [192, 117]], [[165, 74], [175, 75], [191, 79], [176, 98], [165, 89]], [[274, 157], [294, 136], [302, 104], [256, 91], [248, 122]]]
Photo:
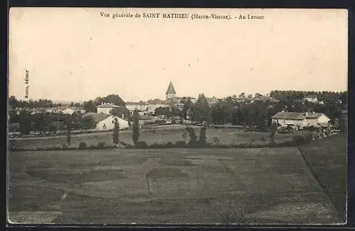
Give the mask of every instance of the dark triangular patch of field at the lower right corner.
[[298, 148], [315, 178], [346, 220], [347, 136], [337, 135]]

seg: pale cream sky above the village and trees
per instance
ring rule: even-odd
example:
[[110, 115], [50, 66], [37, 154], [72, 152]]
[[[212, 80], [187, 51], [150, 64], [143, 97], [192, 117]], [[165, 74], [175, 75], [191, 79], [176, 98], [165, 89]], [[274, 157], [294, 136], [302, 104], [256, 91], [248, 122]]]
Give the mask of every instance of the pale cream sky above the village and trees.
[[[101, 12], [232, 18], [111, 18]], [[248, 14], [263, 19], [238, 18]], [[165, 98], [170, 81], [177, 96], [192, 97], [346, 91], [347, 16], [342, 9], [12, 8], [9, 96], [85, 101], [119, 94], [124, 101], [146, 101]]]

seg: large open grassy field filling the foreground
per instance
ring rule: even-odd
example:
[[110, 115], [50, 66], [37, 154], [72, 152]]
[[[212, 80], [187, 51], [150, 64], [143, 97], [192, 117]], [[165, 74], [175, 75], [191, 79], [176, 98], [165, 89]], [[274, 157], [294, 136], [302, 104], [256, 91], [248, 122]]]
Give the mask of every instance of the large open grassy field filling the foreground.
[[342, 222], [292, 147], [10, 152], [9, 164], [12, 222]]

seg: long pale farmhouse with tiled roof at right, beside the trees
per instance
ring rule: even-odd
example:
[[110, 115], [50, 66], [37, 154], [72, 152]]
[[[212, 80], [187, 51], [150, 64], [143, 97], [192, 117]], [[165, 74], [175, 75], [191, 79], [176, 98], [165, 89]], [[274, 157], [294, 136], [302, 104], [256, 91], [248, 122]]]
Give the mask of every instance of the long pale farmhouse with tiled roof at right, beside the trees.
[[295, 113], [281, 111], [272, 117], [273, 123], [281, 126], [296, 125], [300, 128], [325, 127], [329, 123], [329, 118], [324, 113]]

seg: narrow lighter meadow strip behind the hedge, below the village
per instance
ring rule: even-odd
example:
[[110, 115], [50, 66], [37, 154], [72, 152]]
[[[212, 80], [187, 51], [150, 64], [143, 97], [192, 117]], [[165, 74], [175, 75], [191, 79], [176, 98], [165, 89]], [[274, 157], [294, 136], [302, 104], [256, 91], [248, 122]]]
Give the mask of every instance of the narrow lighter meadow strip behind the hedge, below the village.
[[[195, 128], [197, 137], [200, 134], [200, 128]], [[174, 130], [156, 130], [155, 132], [149, 130], [141, 130], [140, 140], [147, 142], [148, 145], [154, 143], [176, 142], [184, 140], [184, 129]], [[291, 137], [292, 134], [276, 134], [275, 140], [285, 140], [285, 138]], [[120, 141], [132, 144], [131, 131], [125, 130], [120, 133]], [[244, 132], [243, 130], [236, 129], [209, 129], [207, 130], [207, 142], [213, 143], [217, 137], [218, 142], [222, 144], [238, 144], [241, 142], [256, 142], [263, 143], [268, 140], [268, 133], [261, 132]], [[185, 138], [188, 142], [189, 137]], [[71, 145], [78, 147], [80, 142], [86, 142], [87, 145], [97, 145], [98, 142], [106, 142], [107, 145], [112, 144], [112, 133], [89, 133], [83, 135], [72, 135]], [[38, 139], [23, 139], [23, 140], [11, 140], [13, 147], [61, 147], [67, 145], [66, 137], [45, 137]]]

